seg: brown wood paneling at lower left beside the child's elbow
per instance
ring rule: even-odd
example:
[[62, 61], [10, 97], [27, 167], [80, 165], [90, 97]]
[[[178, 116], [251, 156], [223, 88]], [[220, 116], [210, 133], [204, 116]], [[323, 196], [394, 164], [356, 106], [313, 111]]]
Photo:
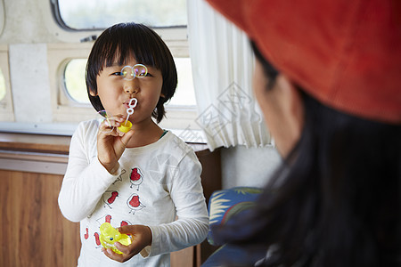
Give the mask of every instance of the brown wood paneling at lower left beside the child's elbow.
[[77, 266], [79, 225], [60, 212], [61, 181], [0, 170], [0, 266]]

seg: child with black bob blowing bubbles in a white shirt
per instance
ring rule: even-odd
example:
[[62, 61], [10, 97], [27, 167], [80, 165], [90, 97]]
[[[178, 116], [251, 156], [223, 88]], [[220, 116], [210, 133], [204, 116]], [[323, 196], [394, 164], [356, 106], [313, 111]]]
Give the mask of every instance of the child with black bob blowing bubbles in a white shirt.
[[[125, 79], [121, 69], [135, 64], [148, 74]], [[80, 222], [78, 266], [169, 266], [170, 252], [206, 238], [201, 164], [189, 146], [152, 120], [164, 117], [176, 81], [172, 55], [151, 28], [117, 24], [94, 43], [86, 68], [89, 99], [114, 119], [82, 122], [71, 139], [59, 206], [67, 219]], [[132, 98], [133, 126], [120, 136], [117, 127]], [[129, 246], [116, 243], [123, 254], [99, 245], [104, 222], [132, 236]]]

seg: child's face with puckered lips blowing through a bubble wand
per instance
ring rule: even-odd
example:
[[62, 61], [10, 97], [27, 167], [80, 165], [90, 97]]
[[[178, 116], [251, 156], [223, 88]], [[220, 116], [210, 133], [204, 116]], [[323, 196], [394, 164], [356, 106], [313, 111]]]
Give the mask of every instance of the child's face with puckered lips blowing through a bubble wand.
[[134, 66], [142, 62], [134, 59], [120, 66], [119, 63], [103, 68], [96, 77], [97, 93], [109, 116], [127, 116], [127, 103], [135, 97], [137, 105], [129, 120], [135, 125], [143, 120], [151, 119], [151, 113], [160, 99], [163, 77], [160, 69], [148, 68], [148, 75], [128, 80], [120, 75], [126, 65]]

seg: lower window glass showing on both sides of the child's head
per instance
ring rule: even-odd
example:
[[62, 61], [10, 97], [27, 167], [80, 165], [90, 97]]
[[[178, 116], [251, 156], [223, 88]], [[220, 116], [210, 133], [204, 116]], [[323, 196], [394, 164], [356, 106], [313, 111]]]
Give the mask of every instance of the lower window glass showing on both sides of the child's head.
[[[176, 93], [168, 102], [168, 106], [188, 107], [195, 106], [195, 93], [192, 83], [191, 60], [189, 58], [175, 58], [178, 73]], [[89, 103], [85, 83], [86, 60], [75, 59], [66, 64], [64, 69], [64, 87], [70, 100], [78, 103]]]

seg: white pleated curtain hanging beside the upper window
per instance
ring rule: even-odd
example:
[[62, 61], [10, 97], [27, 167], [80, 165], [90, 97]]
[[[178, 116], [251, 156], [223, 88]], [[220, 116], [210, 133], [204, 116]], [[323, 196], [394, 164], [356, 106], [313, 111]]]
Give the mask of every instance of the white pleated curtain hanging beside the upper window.
[[209, 150], [270, 143], [252, 93], [248, 37], [204, 0], [188, 0], [188, 39], [201, 126]]

